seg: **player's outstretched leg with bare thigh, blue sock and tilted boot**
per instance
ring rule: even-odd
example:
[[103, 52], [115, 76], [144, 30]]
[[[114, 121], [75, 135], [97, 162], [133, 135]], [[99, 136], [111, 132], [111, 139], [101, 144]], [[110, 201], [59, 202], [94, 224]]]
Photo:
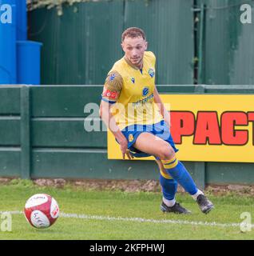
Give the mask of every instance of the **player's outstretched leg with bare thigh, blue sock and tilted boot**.
[[213, 208], [212, 202], [208, 201], [201, 190], [198, 190], [188, 170], [177, 160], [175, 151], [173, 147], [170, 146], [169, 142], [153, 134], [142, 133], [137, 137], [133, 146], [138, 150], [160, 158], [167, 173], [176, 180], [186, 192], [192, 195], [192, 198], [199, 204], [200, 210], [202, 210], [203, 213], [207, 214]]

